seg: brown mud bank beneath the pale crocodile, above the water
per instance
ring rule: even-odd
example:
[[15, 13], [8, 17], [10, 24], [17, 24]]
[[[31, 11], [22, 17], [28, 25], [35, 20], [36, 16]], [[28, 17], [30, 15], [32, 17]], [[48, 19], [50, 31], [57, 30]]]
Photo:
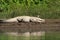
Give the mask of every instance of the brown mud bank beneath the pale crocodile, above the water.
[[60, 31], [60, 19], [46, 19], [44, 23], [0, 23], [0, 32]]

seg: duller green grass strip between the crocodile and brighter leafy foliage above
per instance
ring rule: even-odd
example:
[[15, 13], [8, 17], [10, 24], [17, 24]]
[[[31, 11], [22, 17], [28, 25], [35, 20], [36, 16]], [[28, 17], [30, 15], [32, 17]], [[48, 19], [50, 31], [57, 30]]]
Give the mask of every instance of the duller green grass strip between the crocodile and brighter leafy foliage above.
[[39, 15], [40, 18], [44, 19], [60, 19], [60, 12], [57, 11], [57, 9], [45, 9], [40, 7], [18, 7], [14, 10], [9, 10], [5, 12], [0, 13], [0, 19], [7, 19], [7, 18], [13, 18], [16, 16], [37, 16]]

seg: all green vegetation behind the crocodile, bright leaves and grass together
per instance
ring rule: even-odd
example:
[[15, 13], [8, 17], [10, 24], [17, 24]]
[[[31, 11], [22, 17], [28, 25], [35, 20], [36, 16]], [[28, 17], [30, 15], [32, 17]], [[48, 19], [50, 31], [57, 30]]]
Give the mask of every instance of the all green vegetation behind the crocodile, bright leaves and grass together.
[[0, 18], [20, 15], [60, 18], [60, 0], [0, 0]]

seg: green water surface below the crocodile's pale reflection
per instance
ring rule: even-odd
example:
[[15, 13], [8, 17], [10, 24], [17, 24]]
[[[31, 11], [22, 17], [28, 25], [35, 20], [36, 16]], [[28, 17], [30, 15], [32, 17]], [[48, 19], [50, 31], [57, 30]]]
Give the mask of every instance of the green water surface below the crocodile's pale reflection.
[[12, 36], [0, 34], [0, 40], [60, 40], [60, 32], [47, 32], [45, 36]]

